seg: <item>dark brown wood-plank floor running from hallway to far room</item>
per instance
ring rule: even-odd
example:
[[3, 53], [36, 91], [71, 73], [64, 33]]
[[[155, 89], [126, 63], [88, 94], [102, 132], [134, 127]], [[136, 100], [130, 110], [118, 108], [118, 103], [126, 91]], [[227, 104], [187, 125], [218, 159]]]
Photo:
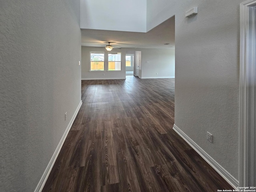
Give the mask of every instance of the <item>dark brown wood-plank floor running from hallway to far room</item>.
[[172, 130], [174, 79], [84, 80], [82, 102], [43, 192], [233, 189]]

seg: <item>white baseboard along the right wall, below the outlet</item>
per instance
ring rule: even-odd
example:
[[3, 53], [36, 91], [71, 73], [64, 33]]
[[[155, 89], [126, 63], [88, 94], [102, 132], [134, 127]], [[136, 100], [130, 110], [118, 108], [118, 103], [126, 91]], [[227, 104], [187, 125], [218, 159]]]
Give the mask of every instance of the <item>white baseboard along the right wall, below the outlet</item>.
[[180, 128], [175, 124], [173, 130], [177, 132], [212, 168], [214, 168], [218, 174], [220, 174], [232, 187], [237, 189], [239, 181], [234, 178], [227, 170], [225, 170], [218, 162], [216, 162], [209, 154], [207, 154], [198, 144], [196, 144], [191, 138], [189, 138]]

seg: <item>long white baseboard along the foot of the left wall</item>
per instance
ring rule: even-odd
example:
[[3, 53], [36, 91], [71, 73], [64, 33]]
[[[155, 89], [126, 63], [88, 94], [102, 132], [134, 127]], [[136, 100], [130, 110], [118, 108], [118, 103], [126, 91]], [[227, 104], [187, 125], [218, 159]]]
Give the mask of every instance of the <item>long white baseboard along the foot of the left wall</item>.
[[63, 134], [63, 136], [62, 136], [62, 138], [61, 138], [61, 140], [60, 140], [60, 142], [59, 142], [59, 144], [58, 144], [58, 146], [57, 146], [57, 148], [56, 148], [56, 150], [55, 150], [55, 152], [54, 152], [54, 154], [53, 154], [53, 156], [50, 160], [50, 162], [48, 163], [46, 169], [44, 170], [44, 174], [42, 175], [42, 177], [41, 177], [38, 185], [36, 186], [36, 189], [34, 190], [34, 192], [41, 192], [43, 190], [44, 185], [46, 183], [46, 180], [48, 179], [48, 176], [50, 175], [52, 167], [54, 166], [54, 163], [55, 163], [55, 161], [56, 161], [56, 159], [57, 159], [57, 157], [60, 153], [62, 145], [64, 144], [64, 141], [66, 140], [68, 132], [69, 132], [70, 128], [72, 127], [72, 124], [73, 124], [73, 122], [76, 118], [76, 115], [78, 114], [78, 111], [79, 111], [81, 105], [82, 105], [82, 100], [80, 101], [78, 107], [76, 108], [76, 111], [75, 111], [72, 119], [70, 120], [70, 122], [68, 124], [68, 127], [66, 128], [66, 130], [65, 130], [65, 132], [64, 132], [64, 134]]

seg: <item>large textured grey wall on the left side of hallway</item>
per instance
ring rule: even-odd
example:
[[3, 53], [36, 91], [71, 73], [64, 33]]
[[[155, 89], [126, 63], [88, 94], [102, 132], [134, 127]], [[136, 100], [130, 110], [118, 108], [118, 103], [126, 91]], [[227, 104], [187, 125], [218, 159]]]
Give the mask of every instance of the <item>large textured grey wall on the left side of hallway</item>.
[[35, 190], [81, 101], [79, 5], [0, 2], [1, 192]]

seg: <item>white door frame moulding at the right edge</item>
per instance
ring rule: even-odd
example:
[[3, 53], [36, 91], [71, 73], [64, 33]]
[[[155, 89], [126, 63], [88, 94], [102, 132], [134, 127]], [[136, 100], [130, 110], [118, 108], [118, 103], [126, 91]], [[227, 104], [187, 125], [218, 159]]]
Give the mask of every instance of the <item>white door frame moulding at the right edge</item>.
[[254, 62], [256, 0], [240, 4], [239, 185], [254, 181]]

